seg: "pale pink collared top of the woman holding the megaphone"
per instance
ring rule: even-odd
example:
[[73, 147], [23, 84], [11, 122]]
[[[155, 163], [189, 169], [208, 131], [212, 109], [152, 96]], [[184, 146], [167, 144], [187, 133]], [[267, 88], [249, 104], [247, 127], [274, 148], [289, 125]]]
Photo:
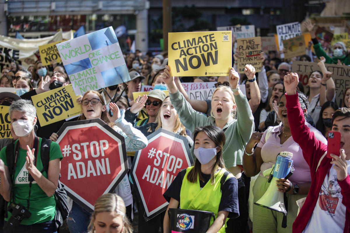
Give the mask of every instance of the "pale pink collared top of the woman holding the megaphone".
[[[315, 129], [307, 122], [305, 122], [305, 124], [310, 128], [311, 132], [315, 133], [315, 136], [318, 140], [322, 141], [324, 144], [327, 144], [327, 140], [323, 137], [320, 131]], [[267, 142], [265, 141], [267, 130], [264, 132], [264, 134], [262, 134], [258, 147], [261, 147], [261, 158], [264, 162], [260, 167], [259, 175], [263, 176], [262, 171], [271, 168], [275, 164], [278, 153], [282, 151], [288, 151], [293, 153], [292, 159], [295, 169], [293, 175], [289, 177], [289, 180], [295, 184], [311, 182], [310, 168], [303, 157], [303, 153], [299, 144], [297, 144], [292, 137], [289, 137], [282, 145], [280, 144], [281, 141], [279, 135], [281, 133], [281, 128], [282, 123], [274, 126], [274, 128], [271, 130], [270, 136], [267, 139]]]

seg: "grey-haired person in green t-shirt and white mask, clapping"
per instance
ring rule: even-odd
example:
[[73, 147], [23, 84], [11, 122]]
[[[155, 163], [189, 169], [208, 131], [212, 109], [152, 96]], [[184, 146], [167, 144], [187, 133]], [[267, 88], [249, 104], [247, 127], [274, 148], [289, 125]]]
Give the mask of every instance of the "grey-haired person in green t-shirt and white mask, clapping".
[[[14, 145], [13, 177], [10, 177], [6, 147], [0, 152], [0, 193], [9, 204], [21, 204], [31, 214], [30, 217], [23, 218], [16, 229], [4, 232], [56, 232], [54, 193], [58, 185], [60, 161], [63, 158], [61, 149], [57, 143], [51, 142], [48, 172], [41, 173], [42, 162], [34, 162], [41, 160], [40, 148], [43, 146], [42, 139], [34, 133], [37, 120], [35, 107], [28, 100], [14, 101], [10, 105], [9, 115], [14, 133], [19, 139]], [[12, 213], [8, 212], [5, 221], [11, 216]]]

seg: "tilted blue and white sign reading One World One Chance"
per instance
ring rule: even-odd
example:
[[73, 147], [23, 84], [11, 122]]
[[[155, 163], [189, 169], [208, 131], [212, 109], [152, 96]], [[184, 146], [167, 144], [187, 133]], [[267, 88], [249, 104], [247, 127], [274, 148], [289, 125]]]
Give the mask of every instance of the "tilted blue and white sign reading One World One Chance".
[[56, 44], [77, 95], [130, 81], [112, 27]]

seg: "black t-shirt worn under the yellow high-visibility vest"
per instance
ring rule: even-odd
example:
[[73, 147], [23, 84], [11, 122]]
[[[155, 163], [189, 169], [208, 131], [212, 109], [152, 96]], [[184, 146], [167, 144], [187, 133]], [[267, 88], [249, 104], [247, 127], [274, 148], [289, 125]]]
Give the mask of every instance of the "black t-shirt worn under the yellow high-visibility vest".
[[[200, 187], [203, 188], [207, 182], [210, 182], [210, 174], [202, 173], [204, 182], [200, 181]], [[170, 198], [174, 198], [180, 202], [180, 190], [182, 185], [181, 172], [177, 173], [174, 181], [170, 184], [169, 188], [164, 192], [164, 198], [169, 202]], [[239, 216], [238, 206], [238, 181], [235, 177], [228, 178], [224, 187], [221, 188], [221, 200], [219, 204], [219, 211], [229, 211], [228, 218], [237, 218]]]

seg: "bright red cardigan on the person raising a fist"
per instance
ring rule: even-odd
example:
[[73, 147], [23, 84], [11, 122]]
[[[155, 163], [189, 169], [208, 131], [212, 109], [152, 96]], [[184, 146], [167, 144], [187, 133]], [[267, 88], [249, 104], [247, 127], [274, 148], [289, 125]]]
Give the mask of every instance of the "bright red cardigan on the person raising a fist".
[[[320, 166], [317, 168], [318, 162], [322, 155], [327, 151], [327, 145], [315, 138], [315, 134], [310, 132], [310, 129], [304, 124], [304, 114], [298, 102], [298, 96], [286, 95], [287, 115], [290, 127], [290, 132], [296, 143], [299, 144], [303, 151], [303, 156], [310, 167], [311, 186], [306, 197], [305, 203], [300, 210], [299, 215], [293, 223], [293, 233], [299, 233], [304, 230], [311, 215], [314, 211], [318, 200], [318, 194], [321, 190], [321, 185], [331, 167], [331, 159], [324, 156]], [[316, 172], [317, 169], [317, 172]], [[350, 177], [349, 175], [343, 180], [338, 181], [343, 195], [342, 203], [346, 206], [345, 227], [344, 233], [350, 229]]]

